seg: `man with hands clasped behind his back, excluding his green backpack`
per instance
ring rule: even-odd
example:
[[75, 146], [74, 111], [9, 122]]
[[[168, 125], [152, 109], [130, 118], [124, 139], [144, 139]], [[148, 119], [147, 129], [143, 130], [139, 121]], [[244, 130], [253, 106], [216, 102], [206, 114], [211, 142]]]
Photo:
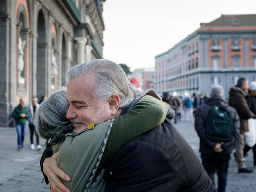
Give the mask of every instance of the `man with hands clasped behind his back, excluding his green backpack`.
[[[206, 134], [206, 122], [209, 110], [212, 106], [226, 106], [233, 118], [233, 138], [228, 142], [215, 142]], [[230, 154], [239, 138], [240, 121], [236, 109], [228, 106], [224, 101], [224, 90], [220, 85], [212, 87], [211, 98], [202, 104], [195, 112], [195, 129], [200, 138], [202, 164], [215, 185], [214, 174], [218, 175], [218, 192], [224, 192], [227, 185], [228, 163]]]

